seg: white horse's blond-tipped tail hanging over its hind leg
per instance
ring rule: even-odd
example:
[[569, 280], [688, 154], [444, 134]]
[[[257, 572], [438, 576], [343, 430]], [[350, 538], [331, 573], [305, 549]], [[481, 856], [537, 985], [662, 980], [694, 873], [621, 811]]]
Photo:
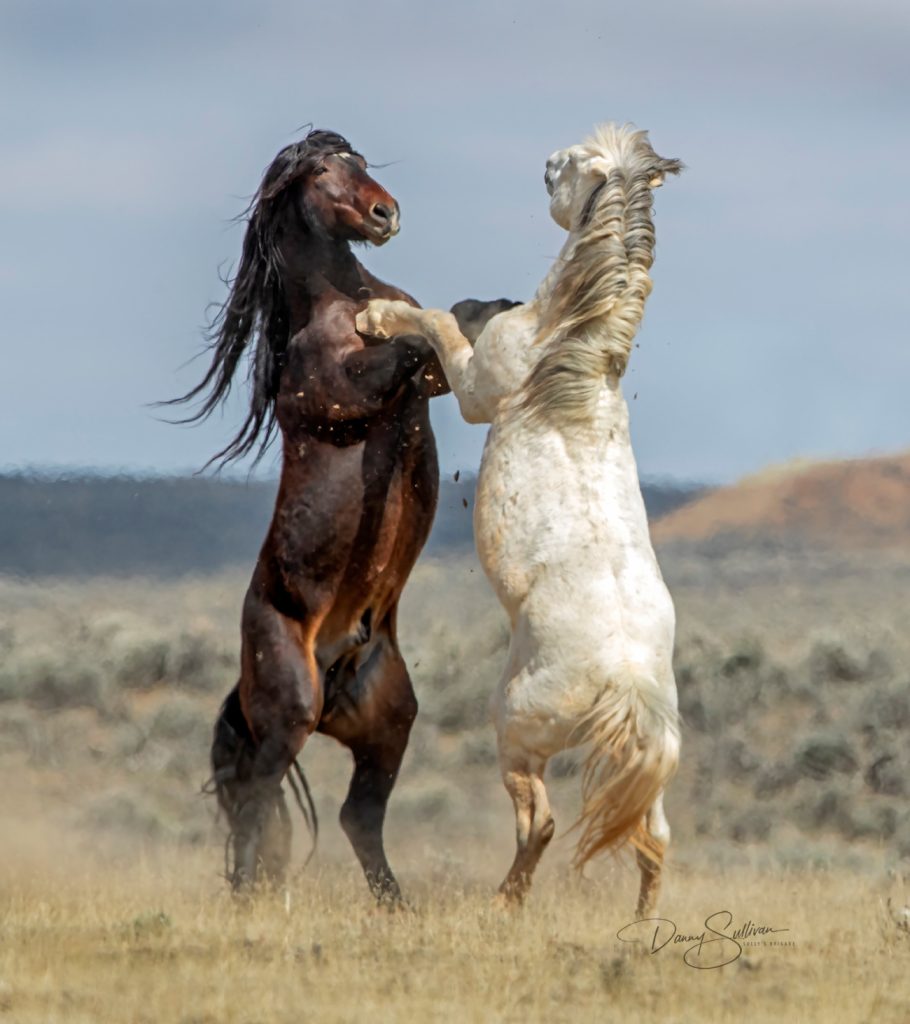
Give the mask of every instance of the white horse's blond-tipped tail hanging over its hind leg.
[[575, 867], [626, 841], [659, 861], [663, 850], [644, 818], [679, 762], [676, 706], [652, 677], [627, 666], [613, 676], [581, 728], [592, 749], [581, 785]]

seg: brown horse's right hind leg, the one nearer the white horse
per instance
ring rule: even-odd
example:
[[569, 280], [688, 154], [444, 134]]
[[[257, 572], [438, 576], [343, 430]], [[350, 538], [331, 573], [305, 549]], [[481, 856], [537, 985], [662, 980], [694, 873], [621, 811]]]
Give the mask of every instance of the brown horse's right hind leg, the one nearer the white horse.
[[354, 774], [341, 809], [341, 826], [374, 896], [398, 904], [401, 890], [383, 845], [389, 796], [417, 716], [407, 669], [391, 639], [381, 638], [365, 664], [339, 681], [337, 698], [319, 724], [354, 756]]

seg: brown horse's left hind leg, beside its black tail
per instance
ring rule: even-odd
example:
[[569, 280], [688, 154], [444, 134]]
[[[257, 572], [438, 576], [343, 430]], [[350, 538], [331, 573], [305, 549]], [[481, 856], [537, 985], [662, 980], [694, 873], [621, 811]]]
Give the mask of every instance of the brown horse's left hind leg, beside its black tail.
[[321, 712], [321, 690], [299, 633], [296, 624], [248, 595], [244, 675], [222, 707], [212, 748], [218, 799], [233, 841], [235, 890], [262, 876], [280, 881], [291, 856], [281, 780]]

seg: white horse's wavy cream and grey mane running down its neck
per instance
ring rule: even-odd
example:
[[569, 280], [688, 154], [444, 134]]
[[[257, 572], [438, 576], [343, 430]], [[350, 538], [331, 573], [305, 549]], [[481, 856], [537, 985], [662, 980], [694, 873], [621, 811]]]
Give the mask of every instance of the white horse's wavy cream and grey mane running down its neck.
[[631, 125], [601, 125], [584, 142], [603, 179], [588, 199], [574, 243], [540, 311], [547, 349], [524, 386], [523, 408], [557, 422], [590, 421], [607, 374], [621, 377], [651, 292], [652, 189], [678, 160]]

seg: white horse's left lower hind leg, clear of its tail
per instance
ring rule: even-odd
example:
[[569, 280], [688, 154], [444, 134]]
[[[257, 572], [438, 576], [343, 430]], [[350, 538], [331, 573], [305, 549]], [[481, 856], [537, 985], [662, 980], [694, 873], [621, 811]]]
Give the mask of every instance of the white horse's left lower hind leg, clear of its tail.
[[500, 886], [500, 893], [508, 902], [520, 903], [531, 885], [531, 876], [537, 861], [547, 849], [556, 823], [550, 813], [550, 801], [544, 785], [541, 758], [512, 760], [502, 758], [503, 781], [515, 805], [516, 840], [518, 849], [515, 860]]

